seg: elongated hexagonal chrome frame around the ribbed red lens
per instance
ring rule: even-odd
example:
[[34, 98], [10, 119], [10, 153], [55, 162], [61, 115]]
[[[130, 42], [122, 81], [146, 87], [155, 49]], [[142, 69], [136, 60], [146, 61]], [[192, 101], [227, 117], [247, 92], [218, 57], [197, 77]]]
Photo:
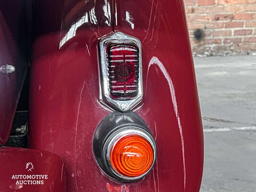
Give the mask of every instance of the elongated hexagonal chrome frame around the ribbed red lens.
[[[108, 62], [107, 62], [107, 46], [110, 44], [134, 44], [139, 49], [139, 78], [138, 78], [138, 94], [130, 100], [116, 100], [110, 97], [109, 78], [108, 78]], [[141, 43], [139, 39], [126, 35], [122, 32], [114, 32], [109, 36], [103, 37], [99, 42], [99, 76], [100, 76], [100, 101], [104, 101], [111, 107], [126, 112], [134, 108], [141, 102], [143, 97], [142, 85], [142, 54]]]

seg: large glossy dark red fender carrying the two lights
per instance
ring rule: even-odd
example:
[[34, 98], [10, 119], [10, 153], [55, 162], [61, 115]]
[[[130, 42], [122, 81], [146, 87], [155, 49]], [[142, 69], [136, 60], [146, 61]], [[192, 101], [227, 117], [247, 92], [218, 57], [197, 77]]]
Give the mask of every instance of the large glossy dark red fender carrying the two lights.
[[[68, 192], [198, 192], [203, 130], [182, 0], [42, 1], [38, 7], [37, 24], [44, 24], [33, 48], [29, 144], [61, 156]], [[76, 36], [63, 40], [74, 29]], [[93, 134], [110, 113], [99, 102], [97, 44], [112, 30], [142, 43], [144, 99], [135, 112], [155, 136], [158, 159], [137, 184], [104, 178], [92, 151]]]

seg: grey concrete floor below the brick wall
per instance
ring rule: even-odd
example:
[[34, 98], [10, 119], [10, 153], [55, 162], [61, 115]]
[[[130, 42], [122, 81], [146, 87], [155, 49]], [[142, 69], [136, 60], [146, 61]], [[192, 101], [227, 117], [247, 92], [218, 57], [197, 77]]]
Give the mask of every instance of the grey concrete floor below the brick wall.
[[205, 134], [200, 192], [256, 192], [256, 56], [194, 61]]

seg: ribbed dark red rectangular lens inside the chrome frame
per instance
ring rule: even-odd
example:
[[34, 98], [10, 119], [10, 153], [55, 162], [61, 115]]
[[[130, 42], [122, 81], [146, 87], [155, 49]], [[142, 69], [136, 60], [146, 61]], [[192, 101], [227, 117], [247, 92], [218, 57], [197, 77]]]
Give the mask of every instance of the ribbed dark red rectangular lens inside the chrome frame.
[[133, 99], [138, 95], [139, 49], [132, 44], [107, 47], [110, 97]]

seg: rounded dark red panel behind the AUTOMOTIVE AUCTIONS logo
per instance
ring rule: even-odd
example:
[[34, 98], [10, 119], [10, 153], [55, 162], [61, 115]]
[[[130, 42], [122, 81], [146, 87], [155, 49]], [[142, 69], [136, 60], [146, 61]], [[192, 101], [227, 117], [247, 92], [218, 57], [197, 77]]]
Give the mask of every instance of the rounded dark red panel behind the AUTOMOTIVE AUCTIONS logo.
[[[32, 163], [26, 166], [27, 163]], [[0, 191], [1, 192], [65, 192], [66, 182], [63, 161], [55, 154], [33, 149], [0, 147]], [[22, 175], [22, 179], [14, 179]], [[23, 175], [47, 175], [41, 184], [21, 184]], [[42, 180], [42, 181], [41, 181]], [[18, 183], [17, 183], [18, 181]], [[31, 183], [32, 181], [26, 181]], [[43, 182], [43, 184], [42, 184]]]

